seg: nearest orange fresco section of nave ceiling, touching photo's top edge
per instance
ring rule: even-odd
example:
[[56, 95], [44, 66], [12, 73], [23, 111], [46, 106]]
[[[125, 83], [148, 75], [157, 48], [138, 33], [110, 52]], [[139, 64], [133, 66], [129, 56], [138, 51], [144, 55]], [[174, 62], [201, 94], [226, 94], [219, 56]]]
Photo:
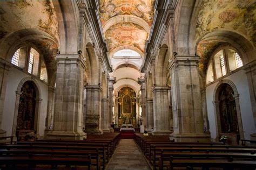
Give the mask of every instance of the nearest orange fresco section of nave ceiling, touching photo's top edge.
[[118, 15], [143, 18], [150, 26], [153, 22], [155, 0], [101, 0], [99, 5], [102, 25]]

